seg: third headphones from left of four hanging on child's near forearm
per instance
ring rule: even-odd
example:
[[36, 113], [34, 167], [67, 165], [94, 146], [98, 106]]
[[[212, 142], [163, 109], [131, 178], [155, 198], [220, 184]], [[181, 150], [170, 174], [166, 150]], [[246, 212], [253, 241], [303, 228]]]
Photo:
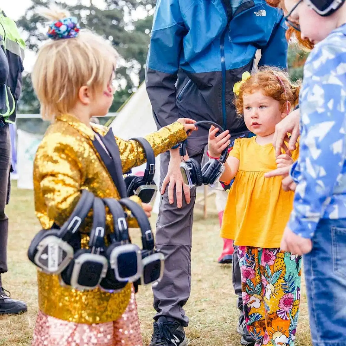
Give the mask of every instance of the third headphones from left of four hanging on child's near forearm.
[[104, 255], [108, 260], [108, 271], [100, 282], [104, 290], [121, 290], [127, 282], [134, 282], [142, 274], [142, 256], [137, 245], [131, 244], [125, 212], [119, 201], [105, 198], [113, 216], [114, 232], [108, 235], [110, 245]]

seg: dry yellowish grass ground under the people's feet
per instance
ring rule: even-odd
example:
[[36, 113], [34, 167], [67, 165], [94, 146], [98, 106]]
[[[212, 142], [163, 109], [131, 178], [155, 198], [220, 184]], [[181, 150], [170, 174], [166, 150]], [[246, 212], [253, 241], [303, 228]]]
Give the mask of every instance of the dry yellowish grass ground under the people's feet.
[[[210, 204], [213, 204], [211, 201]], [[0, 316], [0, 345], [29, 346], [37, 313], [36, 270], [29, 263], [26, 251], [39, 230], [34, 216], [31, 191], [12, 189], [10, 206], [9, 272], [3, 276], [4, 286], [12, 296], [28, 303], [28, 312], [20, 316]], [[153, 224], [155, 219], [153, 217]], [[231, 267], [216, 262], [222, 241], [218, 236], [216, 211], [208, 219], [195, 211], [192, 248], [192, 292], [186, 305], [190, 325], [186, 334], [191, 346], [239, 346], [236, 333], [236, 297], [231, 281]], [[297, 346], [311, 346], [306, 294], [303, 287]], [[150, 287], [140, 287], [137, 295], [144, 345], [152, 333], [154, 309]]]

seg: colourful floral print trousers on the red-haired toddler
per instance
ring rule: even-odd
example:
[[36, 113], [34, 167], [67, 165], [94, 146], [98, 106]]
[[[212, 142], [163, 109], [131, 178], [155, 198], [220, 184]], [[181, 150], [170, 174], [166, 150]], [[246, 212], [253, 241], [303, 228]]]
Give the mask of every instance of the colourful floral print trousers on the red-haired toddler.
[[300, 302], [301, 256], [239, 246], [244, 315], [255, 346], [294, 346]]

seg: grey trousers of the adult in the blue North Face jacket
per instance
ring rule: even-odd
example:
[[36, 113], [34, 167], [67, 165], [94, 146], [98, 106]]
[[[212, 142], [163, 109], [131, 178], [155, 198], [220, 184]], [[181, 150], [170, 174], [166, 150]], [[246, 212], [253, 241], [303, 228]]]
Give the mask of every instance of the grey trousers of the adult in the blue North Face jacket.
[[[201, 163], [207, 139], [206, 136], [195, 138], [193, 148], [188, 145], [187, 151], [190, 158]], [[160, 160], [161, 189], [170, 161], [169, 152], [161, 154]], [[189, 318], [185, 315], [183, 306], [188, 301], [191, 292], [192, 222], [196, 188], [191, 189], [190, 192], [190, 204], [186, 204], [183, 193], [181, 208], [176, 206], [175, 190], [173, 204], [168, 201], [167, 189], [161, 195], [155, 239], [156, 247], [165, 255], [166, 260], [162, 281], [153, 288], [154, 308], [157, 311], [154, 319], [157, 321], [160, 316], [174, 318], [184, 327], [189, 324]], [[233, 258], [233, 286], [238, 295], [238, 308], [240, 313], [243, 313], [242, 280], [236, 251]]]

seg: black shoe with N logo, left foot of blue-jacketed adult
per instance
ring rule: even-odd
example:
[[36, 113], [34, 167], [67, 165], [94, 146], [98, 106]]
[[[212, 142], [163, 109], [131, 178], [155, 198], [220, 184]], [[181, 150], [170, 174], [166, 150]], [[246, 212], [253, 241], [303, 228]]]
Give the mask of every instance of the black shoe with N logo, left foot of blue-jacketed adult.
[[186, 346], [184, 327], [178, 321], [167, 321], [165, 316], [154, 322], [154, 333], [149, 346]]

